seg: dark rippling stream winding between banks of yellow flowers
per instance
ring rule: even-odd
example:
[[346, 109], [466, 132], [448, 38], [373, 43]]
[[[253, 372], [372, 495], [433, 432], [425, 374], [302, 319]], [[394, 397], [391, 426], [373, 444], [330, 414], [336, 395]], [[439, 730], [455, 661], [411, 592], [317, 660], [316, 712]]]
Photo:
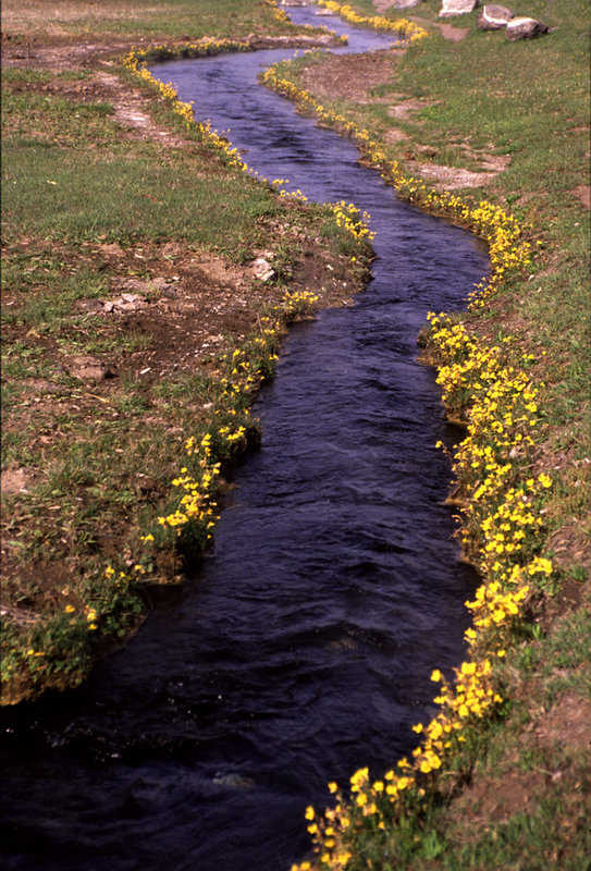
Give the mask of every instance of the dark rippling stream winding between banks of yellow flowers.
[[[368, 41], [384, 37], [360, 32], [350, 48]], [[367, 209], [373, 279], [353, 308], [292, 332], [214, 557], [84, 691], [45, 702], [28, 728], [9, 723], [2, 868], [287, 869], [307, 849], [305, 806], [408, 752], [431, 670], [461, 655], [475, 579], [442, 505], [450, 469], [434, 444], [451, 433], [416, 335], [487, 260], [470, 235], [397, 201], [349, 142], [255, 87], [260, 64], [287, 53], [158, 72], [263, 175]]]

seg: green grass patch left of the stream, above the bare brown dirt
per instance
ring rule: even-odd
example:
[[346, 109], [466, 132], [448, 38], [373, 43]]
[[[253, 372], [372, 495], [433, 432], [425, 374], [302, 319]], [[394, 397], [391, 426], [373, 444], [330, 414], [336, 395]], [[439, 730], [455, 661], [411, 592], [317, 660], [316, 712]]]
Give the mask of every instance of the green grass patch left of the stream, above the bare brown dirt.
[[[11, 71], [4, 85], [10, 83]], [[7, 241], [33, 234], [66, 244], [130, 245], [183, 237], [209, 248], [223, 240], [227, 250], [236, 250], [238, 241], [254, 243], [263, 217], [281, 210], [249, 179], [227, 177], [222, 168], [204, 173], [198, 149], [174, 149], [162, 161], [156, 143], [122, 143], [108, 103], [81, 106], [10, 89], [4, 101]], [[189, 185], [185, 172], [193, 174]]]

